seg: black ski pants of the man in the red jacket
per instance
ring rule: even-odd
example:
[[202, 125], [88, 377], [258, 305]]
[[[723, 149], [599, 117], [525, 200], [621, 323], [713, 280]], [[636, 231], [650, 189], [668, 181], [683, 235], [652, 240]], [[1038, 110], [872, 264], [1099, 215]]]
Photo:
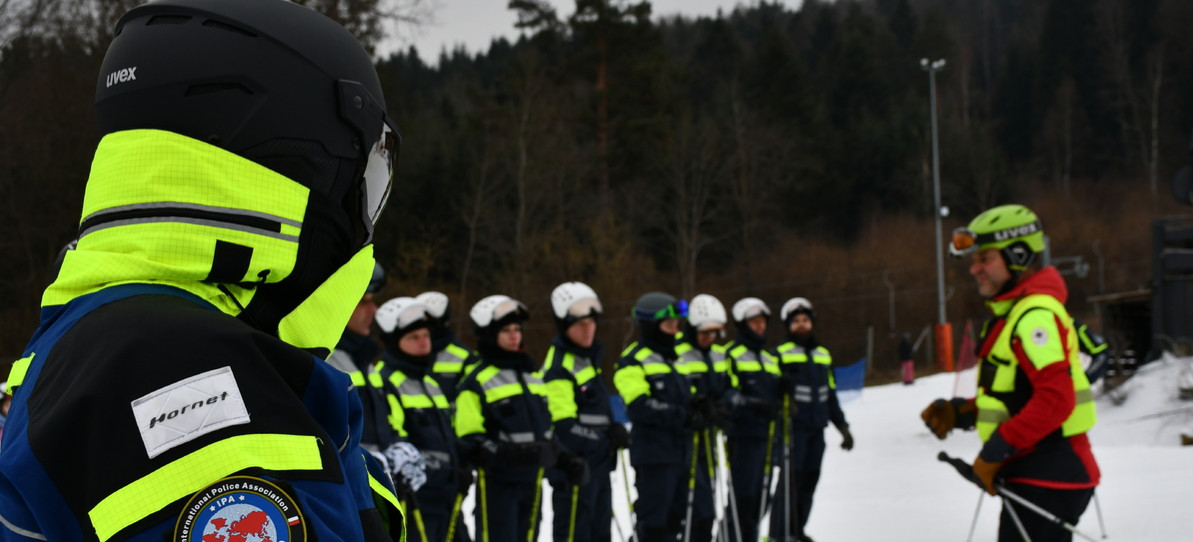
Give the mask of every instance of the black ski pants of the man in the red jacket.
[[[1086, 511], [1086, 506], [1089, 506], [1089, 499], [1094, 497], [1093, 488], [1052, 489], [1024, 484], [1007, 484], [1006, 487], [1030, 503], [1052, 512], [1070, 525], [1077, 524], [1081, 515]], [[1063, 526], [1044, 519], [1043, 516], [1028, 510], [1026, 506], [1003, 498], [1002, 515], [999, 517], [999, 542], [1020, 542], [1024, 540], [1019, 534], [1019, 528], [1015, 526], [1015, 521], [1010, 518], [1007, 506], [1015, 509], [1015, 515], [1024, 523], [1024, 530], [1027, 531], [1027, 536], [1031, 537], [1032, 542], [1069, 542], [1073, 540], [1073, 532], [1069, 532]]]

